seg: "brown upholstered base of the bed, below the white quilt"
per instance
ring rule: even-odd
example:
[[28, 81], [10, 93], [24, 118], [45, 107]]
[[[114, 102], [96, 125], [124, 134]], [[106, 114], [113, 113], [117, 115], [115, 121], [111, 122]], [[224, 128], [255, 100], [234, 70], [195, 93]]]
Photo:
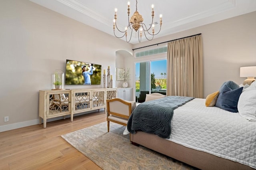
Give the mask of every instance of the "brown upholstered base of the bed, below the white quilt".
[[155, 134], [137, 131], [130, 134], [130, 141], [202, 170], [253, 170], [250, 166], [182, 146]]

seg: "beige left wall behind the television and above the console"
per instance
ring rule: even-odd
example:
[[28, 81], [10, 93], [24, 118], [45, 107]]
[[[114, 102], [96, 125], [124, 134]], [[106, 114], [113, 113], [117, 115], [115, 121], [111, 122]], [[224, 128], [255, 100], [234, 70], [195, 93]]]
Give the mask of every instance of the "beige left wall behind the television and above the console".
[[[110, 65], [115, 73], [118, 49], [132, 53], [129, 43], [33, 2], [1, 0], [0, 131], [39, 122], [39, 90], [52, 89], [52, 73], [65, 72], [66, 59], [101, 64], [102, 69]], [[103, 87], [103, 80], [101, 85], [86, 86], [98, 87]], [[9, 122], [4, 122], [4, 116], [9, 116]]]

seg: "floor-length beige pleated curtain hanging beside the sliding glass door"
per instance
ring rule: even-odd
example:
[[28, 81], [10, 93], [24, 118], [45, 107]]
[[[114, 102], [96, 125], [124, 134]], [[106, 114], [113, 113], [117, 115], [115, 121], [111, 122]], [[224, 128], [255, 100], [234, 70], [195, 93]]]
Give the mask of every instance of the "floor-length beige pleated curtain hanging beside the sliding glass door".
[[203, 98], [201, 35], [168, 42], [167, 95]]

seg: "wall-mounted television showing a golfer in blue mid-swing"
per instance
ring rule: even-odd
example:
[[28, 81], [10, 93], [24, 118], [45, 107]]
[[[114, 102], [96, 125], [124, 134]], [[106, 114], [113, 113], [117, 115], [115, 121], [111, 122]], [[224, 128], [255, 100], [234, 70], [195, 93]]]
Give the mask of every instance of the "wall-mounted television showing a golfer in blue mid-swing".
[[65, 85], [100, 85], [101, 65], [66, 60]]

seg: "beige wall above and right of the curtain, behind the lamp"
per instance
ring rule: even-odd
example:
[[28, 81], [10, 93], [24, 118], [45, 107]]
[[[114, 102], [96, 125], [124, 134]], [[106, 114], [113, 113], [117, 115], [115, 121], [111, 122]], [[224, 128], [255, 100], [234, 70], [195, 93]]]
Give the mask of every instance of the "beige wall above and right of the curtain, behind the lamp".
[[[151, 42], [138, 43], [132, 48], [199, 33], [202, 33], [204, 54], [204, 98], [217, 91], [224, 81], [232, 80], [238, 84], [243, 83], [246, 77], [239, 77], [240, 67], [256, 66], [256, 12], [178, 32], [163, 38], [156, 38]], [[152, 47], [156, 47], [156, 45]], [[161, 55], [157, 55], [148, 58], [161, 57]], [[130, 62], [134, 63], [134, 61], [145, 59], [146, 57], [142, 57]]]

